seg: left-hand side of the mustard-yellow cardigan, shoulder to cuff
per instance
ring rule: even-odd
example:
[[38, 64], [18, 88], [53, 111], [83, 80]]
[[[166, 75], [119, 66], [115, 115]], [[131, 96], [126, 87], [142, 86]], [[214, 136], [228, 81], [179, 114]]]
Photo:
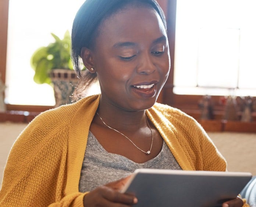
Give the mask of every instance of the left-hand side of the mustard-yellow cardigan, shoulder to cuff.
[[83, 206], [86, 193], [78, 191], [82, 162], [74, 157], [79, 151], [83, 159], [89, 130], [84, 123], [90, 125], [98, 102], [99, 96], [92, 96], [48, 110], [25, 128], [8, 156], [0, 206]]

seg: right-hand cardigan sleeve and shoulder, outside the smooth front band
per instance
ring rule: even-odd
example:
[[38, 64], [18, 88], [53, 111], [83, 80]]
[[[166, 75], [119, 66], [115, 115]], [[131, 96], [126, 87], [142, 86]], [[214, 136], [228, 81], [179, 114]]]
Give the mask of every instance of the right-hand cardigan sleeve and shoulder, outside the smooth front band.
[[226, 161], [203, 127], [178, 109], [169, 112], [174, 132], [194, 170], [226, 171]]

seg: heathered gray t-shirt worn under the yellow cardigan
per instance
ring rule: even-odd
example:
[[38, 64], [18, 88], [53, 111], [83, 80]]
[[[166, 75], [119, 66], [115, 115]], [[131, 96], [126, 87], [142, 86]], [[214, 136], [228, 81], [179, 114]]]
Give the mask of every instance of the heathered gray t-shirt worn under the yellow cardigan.
[[161, 152], [152, 160], [135, 163], [124, 156], [107, 152], [89, 131], [79, 192], [91, 191], [98, 186], [127, 177], [137, 168], [181, 170], [165, 142]]

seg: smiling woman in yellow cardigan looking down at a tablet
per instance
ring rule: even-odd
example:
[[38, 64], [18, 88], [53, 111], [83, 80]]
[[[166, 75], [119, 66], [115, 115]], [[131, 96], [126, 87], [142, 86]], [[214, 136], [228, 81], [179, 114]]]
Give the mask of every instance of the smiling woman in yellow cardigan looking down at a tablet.
[[29, 124], [8, 158], [0, 206], [131, 206], [136, 197], [118, 190], [136, 168], [226, 170], [194, 119], [156, 104], [170, 69], [156, 1], [85, 1], [73, 24], [72, 57], [79, 75], [80, 57], [88, 68], [85, 85], [99, 79], [101, 95]]

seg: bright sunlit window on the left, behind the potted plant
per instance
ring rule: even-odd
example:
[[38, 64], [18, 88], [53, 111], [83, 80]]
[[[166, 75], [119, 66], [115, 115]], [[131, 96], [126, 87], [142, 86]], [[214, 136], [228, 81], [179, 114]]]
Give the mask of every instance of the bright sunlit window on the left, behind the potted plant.
[[33, 81], [33, 52], [71, 32], [84, 0], [9, 0], [6, 99], [8, 104], [55, 105], [53, 88]]

